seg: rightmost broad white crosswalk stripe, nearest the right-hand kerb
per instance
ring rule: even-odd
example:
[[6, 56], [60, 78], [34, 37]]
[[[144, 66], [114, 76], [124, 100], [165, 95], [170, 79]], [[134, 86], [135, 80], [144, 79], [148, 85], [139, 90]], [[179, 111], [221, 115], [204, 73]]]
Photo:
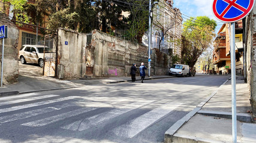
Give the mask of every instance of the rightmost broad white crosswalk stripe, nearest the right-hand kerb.
[[175, 108], [179, 107], [182, 103], [168, 102], [161, 107], [155, 108], [146, 114], [137, 117], [134, 120], [126, 123], [125, 125], [119, 126], [113, 129], [113, 132], [118, 136], [123, 136], [125, 138], [133, 138], [135, 135], [140, 133], [142, 130], [146, 129]]

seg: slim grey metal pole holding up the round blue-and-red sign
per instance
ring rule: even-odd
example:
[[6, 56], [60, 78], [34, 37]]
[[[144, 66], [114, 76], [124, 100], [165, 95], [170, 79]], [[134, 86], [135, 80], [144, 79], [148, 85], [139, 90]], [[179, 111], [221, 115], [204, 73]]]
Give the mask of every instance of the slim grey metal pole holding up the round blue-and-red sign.
[[232, 86], [232, 136], [237, 142], [236, 127], [236, 54], [235, 54], [235, 23], [231, 23], [230, 30], [230, 55], [231, 55], [231, 86]]

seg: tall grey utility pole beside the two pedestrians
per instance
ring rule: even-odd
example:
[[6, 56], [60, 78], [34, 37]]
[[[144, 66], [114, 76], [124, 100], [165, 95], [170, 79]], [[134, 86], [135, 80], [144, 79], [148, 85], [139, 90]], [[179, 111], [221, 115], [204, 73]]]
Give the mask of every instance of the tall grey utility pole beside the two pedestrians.
[[[158, 1], [153, 2], [153, 4], [158, 4]], [[150, 68], [151, 68], [151, 58], [150, 58], [150, 50], [151, 50], [151, 38], [152, 38], [152, 25], [151, 25], [151, 18], [153, 17], [152, 14], [152, 4], [151, 0], [149, 0], [149, 77], [150, 77]]]

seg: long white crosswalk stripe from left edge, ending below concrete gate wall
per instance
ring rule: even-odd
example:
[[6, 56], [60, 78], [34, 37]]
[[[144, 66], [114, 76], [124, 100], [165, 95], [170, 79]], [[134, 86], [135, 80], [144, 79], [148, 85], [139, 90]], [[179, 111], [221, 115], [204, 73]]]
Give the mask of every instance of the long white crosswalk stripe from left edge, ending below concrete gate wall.
[[55, 99], [55, 100], [47, 100], [47, 101], [35, 102], [35, 103], [31, 103], [31, 104], [17, 105], [17, 106], [10, 107], [10, 108], [1, 108], [0, 113], [20, 110], [20, 109], [29, 108], [29, 107], [36, 107], [36, 106], [39, 106], [39, 105], [46, 105], [46, 104], [50, 104], [50, 103], [54, 103], [54, 102], [61, 102], [61, 101], [65, 101], [65, 100], [72, 100], [74, 98], [80, 98], [80, 97], [76, 97], [76, 96], [64, 97], [64, 98], [58, 98], [58, 99]]

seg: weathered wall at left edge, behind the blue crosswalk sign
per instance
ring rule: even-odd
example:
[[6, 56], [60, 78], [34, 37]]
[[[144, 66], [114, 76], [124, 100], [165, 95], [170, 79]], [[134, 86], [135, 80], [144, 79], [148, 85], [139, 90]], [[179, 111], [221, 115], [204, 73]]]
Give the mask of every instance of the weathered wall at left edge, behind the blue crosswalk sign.
[[[16, 28], [15, 24], [11, 23], [10, 19], [5, 14], [0, 15], [0, 26], [8, 26], [8, 38], [4, 40], [4, 74], [3, 84], [11, 84], [17, 82], [19, 74], [19, 63], [18, 63], [18, 50], [17, 44], [19, 40], [19, 29]], [[2, 39], [0, 40], [0, 67], [2, 67]], [[1, 69], [1, 68], [0, 68]], [[0, 70], [1, 77], [1, 70]]]

